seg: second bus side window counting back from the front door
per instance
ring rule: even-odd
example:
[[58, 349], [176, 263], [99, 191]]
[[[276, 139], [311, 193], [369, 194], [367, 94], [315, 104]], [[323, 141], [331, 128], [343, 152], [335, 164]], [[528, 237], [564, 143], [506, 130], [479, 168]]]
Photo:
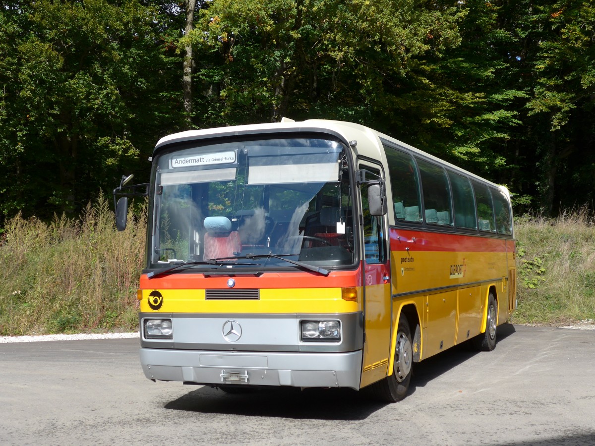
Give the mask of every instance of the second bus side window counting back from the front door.
[[452, 207], [446, 172], [443, 168], [423, 159], [418, 159], [417, 164], [424, 190], [425, 222], [452, 226]]

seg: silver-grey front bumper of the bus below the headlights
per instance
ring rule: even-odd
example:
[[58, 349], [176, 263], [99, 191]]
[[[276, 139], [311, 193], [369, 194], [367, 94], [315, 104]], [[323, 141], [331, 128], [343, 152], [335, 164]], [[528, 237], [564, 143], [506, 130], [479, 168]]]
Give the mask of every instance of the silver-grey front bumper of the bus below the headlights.
[[362, 351], [340, 353], [140, 348], [149, 379], [206, 385], [287, 385], [359, 389]]

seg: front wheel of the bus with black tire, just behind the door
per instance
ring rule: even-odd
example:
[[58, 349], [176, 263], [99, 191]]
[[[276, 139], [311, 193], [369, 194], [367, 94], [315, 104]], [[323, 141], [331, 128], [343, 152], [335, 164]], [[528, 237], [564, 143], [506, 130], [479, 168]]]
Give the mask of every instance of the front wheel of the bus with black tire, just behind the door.
[[369, 387], [372, 397], [386, 403], [396, 403], [406, 397], [413, 371], [411, 328], [405, 315], [400, 315], [393, 373]]

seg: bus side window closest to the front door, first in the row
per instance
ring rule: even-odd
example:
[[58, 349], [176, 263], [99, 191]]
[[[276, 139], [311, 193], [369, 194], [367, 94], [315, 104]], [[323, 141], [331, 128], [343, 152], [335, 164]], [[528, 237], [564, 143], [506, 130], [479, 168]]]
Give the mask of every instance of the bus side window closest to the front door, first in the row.
[[421, 222], [419, 178], [411, 155], [384, 146], [389, 162], [394, 217], [400, 221]]

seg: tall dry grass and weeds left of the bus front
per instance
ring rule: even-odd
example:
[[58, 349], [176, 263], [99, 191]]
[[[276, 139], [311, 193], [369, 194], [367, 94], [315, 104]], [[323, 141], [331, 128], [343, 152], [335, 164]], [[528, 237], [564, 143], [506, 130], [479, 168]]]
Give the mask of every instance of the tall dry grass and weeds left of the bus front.
[[0, 241], [0, 334], [136, 330], [146, 209], [123, 233], [101, 195], [80, 219], [20, 215]]

